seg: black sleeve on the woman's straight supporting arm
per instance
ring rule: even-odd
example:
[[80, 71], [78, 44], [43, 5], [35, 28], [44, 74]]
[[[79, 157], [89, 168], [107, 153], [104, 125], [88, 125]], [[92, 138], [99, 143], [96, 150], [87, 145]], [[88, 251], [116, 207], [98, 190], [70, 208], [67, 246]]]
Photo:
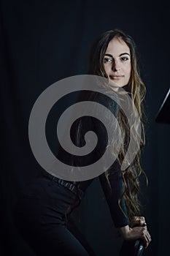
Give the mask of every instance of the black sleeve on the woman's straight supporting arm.
[[[109, 110], [112, 111], [112, 114], [117, 118], [117, 111], [118, 111], [118, 105], [117, 102], [114, 100], [111, 100], [110, 98], [107, 99], [101, 99], [101, 102], [103, 100], [103, 104], [106, 105]], [[98, 152], [97, 154], [101, 156], [101, 148], [106, 149], [106, 145], [115, 143], [115, 128], [117, 126], [117, 123], [115, 121], [115, 118], [112, 117], [112, 114], [106, 114], [105, 118], [107, 120], [107, 124], [109, 124], [109, 129], [112, 131], [113, 138], [112, 141], [109, 141], [106, 139], [106, 133], [104, 133], [104, 127], [101, 125], [100, 122], [95, 122], [93, 124], [93, 127], [98, 134]], [[112, 220], [115, 224], [115, 227], [124, 227], [125, 225], [129, 224], [127, 210], [125, 207], [125, 199], [122, 197], [123, 195], [123, 180], [121, 178], [120, 173], [120, 165], [118, 161], [116, 160], [113, 162], [112, 166], [109, 167], [109, 183], [107, 181], [107, 178], [105, 176], [105, 173], [101, 174], [99, 176], [99, 180], [101, 182], [101, 187], [104, 191], [104, 195], [107, 200], [107, 204], [109, 206], [109, 211], [112, 216]], [[110, 184], [110, 187], [109, 187]], [[119, 200], [120, 200], [120, 206], [119, 206]]]

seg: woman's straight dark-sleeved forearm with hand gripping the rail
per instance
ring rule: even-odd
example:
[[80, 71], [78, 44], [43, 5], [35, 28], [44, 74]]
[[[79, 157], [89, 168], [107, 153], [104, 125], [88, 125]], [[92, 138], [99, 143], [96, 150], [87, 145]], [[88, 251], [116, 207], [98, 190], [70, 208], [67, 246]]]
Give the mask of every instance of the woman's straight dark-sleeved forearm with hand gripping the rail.
[[103, 173], [99, 178], [101, 181], [101, 186], [104, 190], [104, 195], [106, 197], [109, 210], [112, 216], [112, 220], [120, 231], [120, 236], [125, 240], [136, 240], [141, 238], [144, 242], [144, 247], [150, 244], [151, 237], [150, 233], [147, 230], [147, 226], [143, 226], [145, 224], [144, 217], [134, 217], [133, 225], [138, 225], [139, 227], [130, 227], [128, 221], [128, 214], [125, 207], [125, 200], [122, 197], [120, 200], [120, 206], [118, 200], [120, 199], [123, 193], [123, 181], [120, 176], [120, 173], [116, 170], [117, 165], [113, 165], [115, 171], [108, 177], [109, 184], [107, 179], [105, 178], [105, 174]]

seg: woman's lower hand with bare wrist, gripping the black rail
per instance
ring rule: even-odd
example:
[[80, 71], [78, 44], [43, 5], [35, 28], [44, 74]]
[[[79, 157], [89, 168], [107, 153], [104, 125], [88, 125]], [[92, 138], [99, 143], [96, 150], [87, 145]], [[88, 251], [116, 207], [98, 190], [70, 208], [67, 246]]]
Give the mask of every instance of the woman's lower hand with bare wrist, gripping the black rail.
[[125, 227], [120, 227], [120, 233], [125, 240], [142, 239], [144, 248], [147, 248], [151, 241], [150, 233], [147, 231], [146, 226], [131, 228], [127, 225]]

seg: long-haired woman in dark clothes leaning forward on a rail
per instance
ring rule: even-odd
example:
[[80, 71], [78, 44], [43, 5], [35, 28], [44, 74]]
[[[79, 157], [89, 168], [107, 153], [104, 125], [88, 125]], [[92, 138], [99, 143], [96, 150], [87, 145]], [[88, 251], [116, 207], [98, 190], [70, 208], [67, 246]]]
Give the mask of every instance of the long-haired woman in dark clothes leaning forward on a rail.
[[[144, 99], [145, 87], [139, 76], [136, 64], [136, 51], [133, 39], [124, 34], [123, 31], [107, 31], [101, 34], [94, 43], [90, 55], [90, 75], [98, 75], [108, 79], [104, 90], [109, 94], [120, 89], [125, 89], [125, 94], [131, 97], [131, 101], [138, 110], [139, 117], [142, 118], [142, 100]], [[121, 95], [121, 93], [120, 93]], [[126, 170], [121, 171], [120, 166], [125, 157], [129, 143], [129, 129], [127, 120], [119, 106], [110, 102], [106, 96], [101, 94], [88, 93], [80, 95], [85, 99], [94, 100], [111, 108], [117, 116], [123, 136], [121, 137], [120, 153], [117, 160], [109, 167], [107, 172], [99, 176], [101, 186], [109, 205], [115, 227], [120, 230], [120, 235], [125, 240], [141, 238], [144, 246], [150, 244], [150, 233], [147, 231], [144, 217], [140, 216], [139, 201], [139, 175], [143, 172], [139, 164], [140, 151], [144, 146], [144, 131], [140, 141], [140, 150], [136, 154], [134, 161]], [[142, 120], [142, 119], [141, 119]], [[88, 128], [87, 128], [88, 123]], [[112, 123], [112, 122], [111, 122]], [[100, 121], [85, 117], [77, 120], [71, 131], [72, 139], [77, 146], [84, 143], [85, 132], [93, 129], [102, 138], [98, 142], [98, 148], [90, 155], [90, 161], [96, 161], [104, 153], [107, 147], [106, 134]], [[143, 127], [143, 126], [142, 126]], [[114, 123], [111, 124], [114, 129]], [[135, 127], [136, 135], [138, 127]], [[82, 130], [84, 132], [82, 132]], [[74, 136], [76, 134], [76, 136]], [[114, 142], [110, 142], [114, 143]], [[69, 155], [60, 148], [58, 158], [61, 161], [70, 163]], [[73, 157], [72, 165], [86, 165], [87, 158]], [[93, 181], [71, 182], [56, 178], [50, 173], [36, 178], [23, 192], [18, 206], [15, 210], [15, 222], [18, 230], [26, 239], [28, 244], [34, 249], [36, 255], [93, 255], [92, 250], [85, 243], [79, 234], [68, 227], [67, 217], [74, 207], [78, 206], [85, 190]], [[140, 227], [133, 227], [133, 225]], [[144, 225], [144, 227], [142, 227]], [[73, 232], [70, 232], [70, 230]]]

